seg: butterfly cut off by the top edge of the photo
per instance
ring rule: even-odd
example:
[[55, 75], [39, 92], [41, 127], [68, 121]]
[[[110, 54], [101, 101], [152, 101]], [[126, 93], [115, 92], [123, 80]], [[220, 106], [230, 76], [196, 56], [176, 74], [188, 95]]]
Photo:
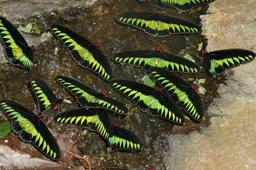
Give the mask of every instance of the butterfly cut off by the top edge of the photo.
[[210, 3], [215, 0], [160, 0], [163, 4], [176, 7], [178, 10], [185, 12], [202, 4]]

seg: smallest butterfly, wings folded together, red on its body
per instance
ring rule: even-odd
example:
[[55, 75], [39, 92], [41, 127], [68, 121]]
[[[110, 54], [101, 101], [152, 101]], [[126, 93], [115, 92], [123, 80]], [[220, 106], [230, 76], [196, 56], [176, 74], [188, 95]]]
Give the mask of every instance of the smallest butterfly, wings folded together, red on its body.
[[63, 98], [57, 99], [50, 87], [40, 78], [32, 77], [30, 82], [38, 101], [41, 116], [57, 109], [63, 102]]

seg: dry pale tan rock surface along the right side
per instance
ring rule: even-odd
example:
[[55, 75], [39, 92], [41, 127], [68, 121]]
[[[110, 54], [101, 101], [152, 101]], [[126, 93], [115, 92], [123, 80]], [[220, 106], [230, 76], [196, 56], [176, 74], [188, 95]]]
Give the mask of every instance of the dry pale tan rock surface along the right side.
[[[244, 48], [256, 52], [255, 0], [215, 0], [201, 16], [208, 51]], [[211, 125], [171, 134], [166, 169], [256, 168], [256, 61], [233, 68], [208, 108]]]

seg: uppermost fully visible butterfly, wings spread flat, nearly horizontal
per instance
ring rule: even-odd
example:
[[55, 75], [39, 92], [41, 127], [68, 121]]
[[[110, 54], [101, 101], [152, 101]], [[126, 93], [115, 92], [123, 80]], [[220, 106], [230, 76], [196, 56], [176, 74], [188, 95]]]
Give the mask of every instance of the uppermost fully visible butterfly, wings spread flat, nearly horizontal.
[[151, 36], [169, 36], [177, 33], [199, 33], [201, 28], [183, 18], [160, 15], [158, 11], [124, 12], [117, 15], [117, 21], [143, 29]]

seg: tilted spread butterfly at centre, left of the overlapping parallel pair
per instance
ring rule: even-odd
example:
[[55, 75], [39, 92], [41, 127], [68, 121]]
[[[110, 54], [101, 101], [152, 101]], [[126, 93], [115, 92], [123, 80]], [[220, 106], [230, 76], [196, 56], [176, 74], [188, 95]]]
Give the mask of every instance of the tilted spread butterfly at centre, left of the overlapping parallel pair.
[[159, 116], [173, 123], [182, 125], [184, 115], [181, 109], [162, 90], [126, 79], [113, 79], [110, 84], [136, 103], [138, 108], [151, 116]]

